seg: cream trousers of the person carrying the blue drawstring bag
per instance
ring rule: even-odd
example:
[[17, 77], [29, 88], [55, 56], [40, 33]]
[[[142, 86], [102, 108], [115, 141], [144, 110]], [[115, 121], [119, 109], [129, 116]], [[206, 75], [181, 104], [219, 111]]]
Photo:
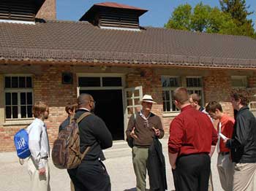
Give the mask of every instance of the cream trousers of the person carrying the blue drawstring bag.
[[28, 160], [28, 170], [31, 179], [31, 191], [50, 191], [50, 169], [48, 160], [45, 160], [45, 175], [39, 175], [31, 158]]

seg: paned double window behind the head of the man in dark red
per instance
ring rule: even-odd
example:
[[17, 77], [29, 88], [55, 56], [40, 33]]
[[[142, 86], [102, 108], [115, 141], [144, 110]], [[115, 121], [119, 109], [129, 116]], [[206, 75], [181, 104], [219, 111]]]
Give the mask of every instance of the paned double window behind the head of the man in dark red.
[[[162, 101], [164, 114], [170, 112], [178, 112], [174, 104], [173, 92], [177, 87], [187, 87], [188, 93], [197, 93], [203, 101], [203, 82], [202, 77], [173, 77], [162, 76]], [[184, 83], [182, 83], [184, 82]], [[203, 104], [203, 103], [200, 103]]]

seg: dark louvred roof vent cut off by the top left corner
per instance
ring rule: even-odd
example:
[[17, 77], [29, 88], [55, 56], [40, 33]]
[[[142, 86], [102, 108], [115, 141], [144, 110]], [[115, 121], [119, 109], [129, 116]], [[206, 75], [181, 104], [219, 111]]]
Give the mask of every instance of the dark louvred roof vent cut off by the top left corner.
[[1, 0], [0, 20], [34, 22], [45, 0]]

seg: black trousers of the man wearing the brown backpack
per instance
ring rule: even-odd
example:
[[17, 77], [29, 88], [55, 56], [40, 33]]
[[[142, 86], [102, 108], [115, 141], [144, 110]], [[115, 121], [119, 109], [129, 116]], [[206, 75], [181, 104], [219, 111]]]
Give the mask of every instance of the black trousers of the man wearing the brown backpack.
[[110, 191], [110, 176], [100, 161], [81, 163], [78, 168], [68, 170], [75, 191]]

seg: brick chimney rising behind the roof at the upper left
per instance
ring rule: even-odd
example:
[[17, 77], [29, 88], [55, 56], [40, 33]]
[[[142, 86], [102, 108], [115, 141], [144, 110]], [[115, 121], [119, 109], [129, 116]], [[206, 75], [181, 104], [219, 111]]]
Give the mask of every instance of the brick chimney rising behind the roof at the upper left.
[[56, 0], [45, 0], [45, 3], [42, 5], [41, 9], [39, 9], [36, 17], [56, 20]]

